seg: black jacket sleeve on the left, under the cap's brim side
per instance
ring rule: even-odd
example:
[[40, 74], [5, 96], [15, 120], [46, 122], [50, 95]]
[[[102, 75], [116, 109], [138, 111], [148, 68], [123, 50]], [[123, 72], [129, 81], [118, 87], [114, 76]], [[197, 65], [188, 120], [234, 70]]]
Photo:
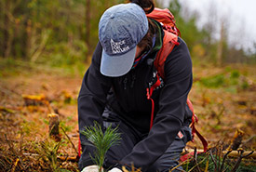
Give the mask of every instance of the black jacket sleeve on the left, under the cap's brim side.
[[[85, 126], [93, 126], [95, 121], [102, 126], [101, 114], [104, 111], [111, 79], [100, 72], [101, 49], [101, 44], [98, 43], [79, 92], [79, 132], [84, 130]], [[80, 140], [83, 153], [79, 160], [79, 169], [82, 170], [85, 166], [93, 164], [89, 154], [93, 156], [94, 148], [87, 145], [88, 140], [82, 134], [80, 134]]]

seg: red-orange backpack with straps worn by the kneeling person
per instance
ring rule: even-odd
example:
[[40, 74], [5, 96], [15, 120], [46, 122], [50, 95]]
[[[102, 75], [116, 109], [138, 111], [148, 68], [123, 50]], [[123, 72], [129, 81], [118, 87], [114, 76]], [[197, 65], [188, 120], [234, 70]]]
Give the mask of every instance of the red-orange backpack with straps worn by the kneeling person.
[[[155, 106], [154, 100], [151, 99], [151, 96], [155, 87], [160, 86], [161, 84], [159, 77], [163, 79], [165, 78], [165, 71], [164, 71], [165, 61], [167, 60], [167, 57], [172, 51], [173, 47], [179, 46], [178, 36], [181, 35], [181, 32], [177, 28], [175, 24], [174, 16], [171, 14], [168, 8], [160, 9], [155, 7], [155, 9], [150, 14], [147, 14], [147, 17], [160, 22], [163, 26], [164, 33], [165, 33], [163, 46], [158, 51], [154, 61], [155, 69], [159, 75], [156, 75], [157, 81], [155, 82], [155, 85], [151, 86], [150, 88], [147, 88], [147, 99], [150, 99], [152, 101], [152, 113], [151, 113], [151, 123], [150, 123], [150, 128], [151, 128], [153, 126], [153, 121], [154, 121], [154, 106]], [[202, 141], [204, 146], [204, 152], [206, 152], [208, 150], [208, 142], [195, 128], [195, 123], [197, 123], [198, 118], [194, 113], [194, 108], [190, 99], [187, 99], [187, 105], [191, 110], [191, 112], [193, 113], [192, 123], [191, 123], [193, 138], [196, 134], [197, 137]], [[194, 139], [192, 141], [194, 141]]]

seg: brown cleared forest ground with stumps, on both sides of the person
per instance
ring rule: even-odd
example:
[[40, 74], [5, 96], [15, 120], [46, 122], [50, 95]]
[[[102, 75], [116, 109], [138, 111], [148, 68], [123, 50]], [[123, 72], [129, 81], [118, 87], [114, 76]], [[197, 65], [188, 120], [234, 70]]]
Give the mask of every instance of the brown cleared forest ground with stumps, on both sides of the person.
[[[76, 99], [82, 75], [65, 73], [60, 69], [27, 68], [24, 65], [0, 67], [1, 171], [51, 171], [54, 169], [54, 157], [51, 157], [51, 162], [47, 154], [42, 152], [54, 152], [52, 150], [57, 147], [56, 155], [64, 157], [57, 164], [63, 169], [77, 170], [75, 160], [68, 161], [67, 158], [77, 155]], [[199, 118], [196, 127], [210, 145], [220, 140], [228, 145], [239, 129], [243, 132], [243, 148], [255, 150], [254, 71], [255, 66], [244, 65], [194, 67], [194, 86], [190, 99]], [[27, 101], [24, 99], [26, 96], [35, 96], [39, 100]], [[50, 103], [51, 110], [42, 99]], [[60, 145], [48, 139], [47, 114], [50, 111], [60, 115]], [[195, 142], [189, 143], [188, 147], [202, 148], [202, 145], [195, 138]]]

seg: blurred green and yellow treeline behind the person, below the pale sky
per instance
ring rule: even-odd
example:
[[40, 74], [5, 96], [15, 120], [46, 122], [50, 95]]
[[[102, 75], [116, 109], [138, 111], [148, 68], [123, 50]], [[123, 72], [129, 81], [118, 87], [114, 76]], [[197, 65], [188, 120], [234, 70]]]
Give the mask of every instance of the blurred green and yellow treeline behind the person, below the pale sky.
[[[106, 8], [124, 1], [1, 0], [0, 57], [53, 66], [89, 62], [98, 42], [101, 14]], [[156, 7], [160, 4], [155, 3]], [[216, 23], [198, 29], [196, 15], [183, 17], [178, 0], [170, 1], [169, 9], [195, 61], [217, 65], [256, 61], [255, 52], [247, 52], [228, 44], [224, 24], [221, 38], [214, 39], [211, 26]]]

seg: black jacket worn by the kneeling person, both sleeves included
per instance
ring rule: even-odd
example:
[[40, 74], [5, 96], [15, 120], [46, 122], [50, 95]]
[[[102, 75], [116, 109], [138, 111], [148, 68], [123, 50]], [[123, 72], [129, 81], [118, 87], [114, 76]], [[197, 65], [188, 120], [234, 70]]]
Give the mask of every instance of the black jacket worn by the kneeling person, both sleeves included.
[[[162, 39], [162, 38], [160, 38]], [[135, 69], [120, 77], [107, 77], [101, 74], [101, 44], [98, 43], [91, 65], [84, 76], [78, 97], [79, 130], [92, 126], [94, 121], [102, 125], [101, 114], [108, 106], [120, 115], [120, 119], [135, 127], [141, 133], [148, 134], [135, 145], [132, 152], [120, 162], [142, 171], [152, 165], [175, 139], [185, 123], [185, 106], [192, 86], [192, 62], [186, 44], [179, 37], [179, 46], [175, 46], [165, 62], [164, 86], [153, 92], [155, 101], [155, 119], [151, 130], [151, 101], [146, 97], [146, 88], [155, 80], [155, 53], [148, 55]], [[88, 140], [80, 135], [82, 142]], [[93, 165], [89, 153], [93, 148], [82, 145], [83, 153], [79, 160], [82, 170]], [[146, 157], [146, 158], [145, 158]]]

